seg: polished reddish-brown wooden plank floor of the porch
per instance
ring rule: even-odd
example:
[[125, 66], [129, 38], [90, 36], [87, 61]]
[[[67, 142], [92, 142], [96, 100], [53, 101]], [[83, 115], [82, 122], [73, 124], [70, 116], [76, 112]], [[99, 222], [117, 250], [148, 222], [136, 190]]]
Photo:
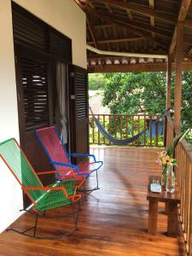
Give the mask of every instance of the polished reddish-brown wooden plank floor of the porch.
[[[91, 151], [104, 161], [99, 174], [101, 189], [82, 204], [79, 231], [56, 241], [3, 232], [0, 235], [0, 255], [185, 255], [182, 236], [166, 236], [163, 205], [160, 205], [158, 234], [152, 236], [147, 232], [147, 183], [148, 175], [160, 173], [160, 166], [155, 163], [157, 150], [92, 148]], [[95, 181], [95, 177], [90, 177], [89, 185]], [[26, 214], [15, 222], [14, 227], [25, 228], [32, 224], [32, 218], [32, 215]], [[72, 228], [71, 217], [41, 218], [39, 231], [59, 233]]]

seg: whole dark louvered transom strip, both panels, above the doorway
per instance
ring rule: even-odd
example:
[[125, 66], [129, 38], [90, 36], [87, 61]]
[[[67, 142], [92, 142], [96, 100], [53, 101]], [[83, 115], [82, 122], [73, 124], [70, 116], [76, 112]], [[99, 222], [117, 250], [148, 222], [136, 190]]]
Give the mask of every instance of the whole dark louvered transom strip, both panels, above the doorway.
[[72, 63], [72, 40], [12, 2], [14, 43]]

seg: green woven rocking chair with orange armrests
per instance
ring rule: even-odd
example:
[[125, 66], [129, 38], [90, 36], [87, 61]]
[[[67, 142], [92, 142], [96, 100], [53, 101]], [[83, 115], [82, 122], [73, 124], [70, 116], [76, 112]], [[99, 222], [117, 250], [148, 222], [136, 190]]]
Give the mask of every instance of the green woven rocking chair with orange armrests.
[[[53, 239], [58, 236], [37, 236], [38, 217], [47, 217], [44, 215], [44, 211], [54, 209], [57, 207], [63, 207], [70, 205], [72, 212], [63, 214], [62, 217], [73, 215], [75, 229], [72, 232], [65, 232], [59, 236], [68, 236], [75, 230], [78, 230], [78, 218], [80, 211], [80, 204], [78, 210], [75, 210], [75, 202], [79, 202], [81, 195], [77, 194], [77, 189], [84, 183], [84, 177], [76, 184], [73, 174], [71, 177], [67, 177], [66, 180], [56, 182], [49, 186], [44, 187], [36, 172], [34, 172], [32, 166], [26, 158], [26, 155], [20, 148], [20, 145], [16, 142], [15, 138], [0, 143], [0, 157], [3, 159], [6, 166], [8, 166], [10, 172], [15, 176], [18, 183], [20, 183], [21, 189], [32, 201], [32, 213], [36, 215], [35, 224], [31, 228], [24, 231], [13, 230], [24, 236], [31, 236], [36, 238]], [[48, 173], [55, 173], [57, 171], [40, 172], [40, 175], [46, 175]], [[58, 171], [61, 172], [61, 171]], [[23, 209], [26, 211], [26, 209]], [[22, 210], [21, 210], [22, 211]], [[50, 216], [49, 216], [50, 217]], [[58, 216], [52, 216], [58, 217]], [[33, 230], [33, 232], [28, 232]]]

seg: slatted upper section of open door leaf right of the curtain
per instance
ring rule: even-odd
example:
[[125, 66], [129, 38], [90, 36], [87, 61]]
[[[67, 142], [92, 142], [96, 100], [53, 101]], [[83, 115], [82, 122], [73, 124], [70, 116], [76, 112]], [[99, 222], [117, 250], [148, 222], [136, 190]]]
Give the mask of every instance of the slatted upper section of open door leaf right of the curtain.
[[77, 120], [87, 118], [87, 73], [82, 70], [75, 72], [75, 96]]

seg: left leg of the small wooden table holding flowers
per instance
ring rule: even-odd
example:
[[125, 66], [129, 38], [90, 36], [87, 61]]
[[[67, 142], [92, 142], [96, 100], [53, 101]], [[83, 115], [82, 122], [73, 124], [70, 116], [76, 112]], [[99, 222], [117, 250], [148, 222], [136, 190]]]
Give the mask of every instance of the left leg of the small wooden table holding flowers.
[[149, 201], [148, 233], [150, 234], [156, 234], [157, 232], [157, 214], [158, 214], [158, 201]]

